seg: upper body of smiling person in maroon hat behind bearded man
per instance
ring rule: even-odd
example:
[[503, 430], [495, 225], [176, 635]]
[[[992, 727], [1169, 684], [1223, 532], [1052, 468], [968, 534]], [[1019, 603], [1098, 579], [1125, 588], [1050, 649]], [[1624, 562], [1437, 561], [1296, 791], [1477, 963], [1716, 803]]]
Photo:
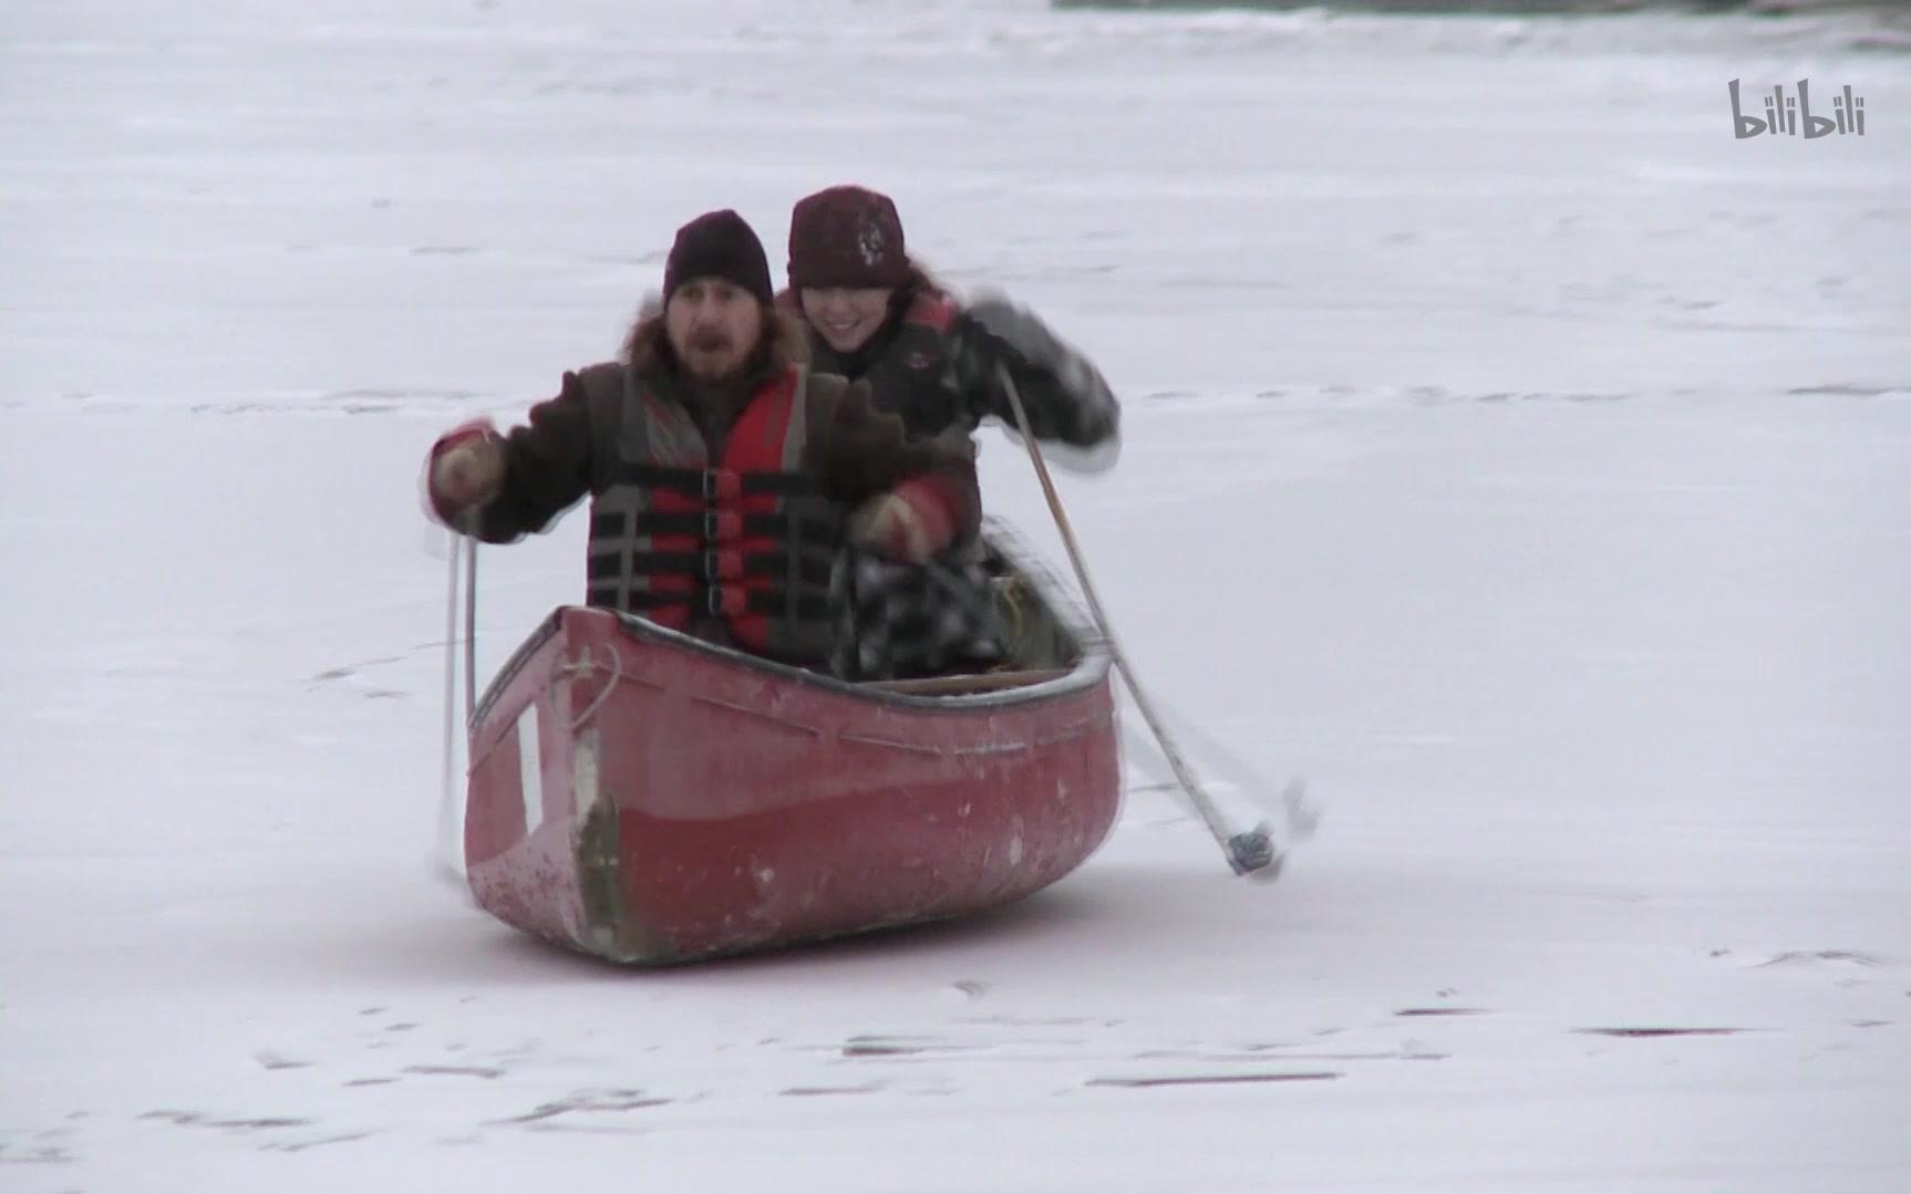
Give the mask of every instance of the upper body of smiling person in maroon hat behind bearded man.
[[868, 378], [875, 401], [910, 430], [973, 432], [984, 418], [1017, 430], [1005, 369], [1038, 439], [1076, 449], [1101, 470], [1120, 453], [1122, 409], [1101, 371], [1026, 308], [999, 294], [961, 306], [904, 243], [889, 195], [827, 187], [789, 212], [789, 288], [818, 369]]

